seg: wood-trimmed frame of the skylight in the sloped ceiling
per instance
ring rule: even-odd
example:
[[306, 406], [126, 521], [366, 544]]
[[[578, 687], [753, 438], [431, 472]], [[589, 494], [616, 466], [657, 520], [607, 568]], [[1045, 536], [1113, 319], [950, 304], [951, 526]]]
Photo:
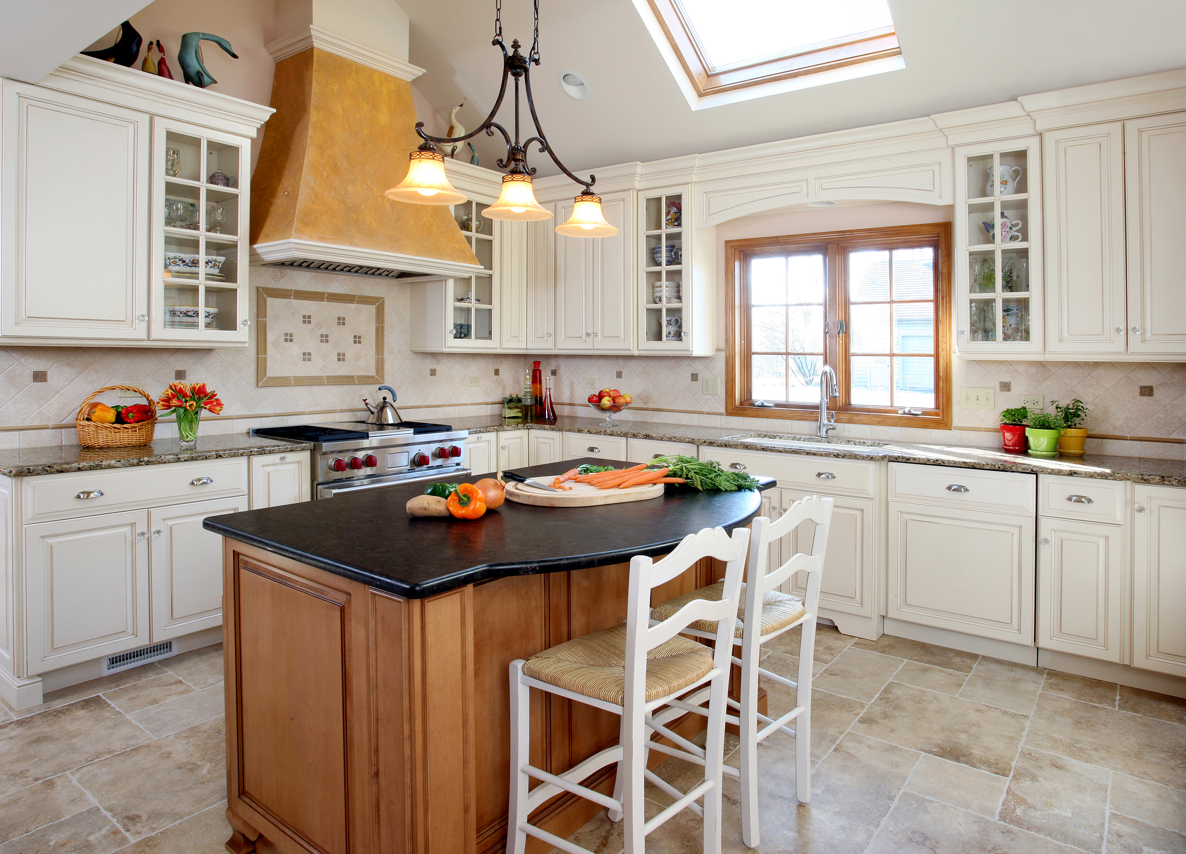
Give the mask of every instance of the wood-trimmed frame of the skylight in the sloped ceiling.
[[700, 97], [901, 56], [895, 28], [891, 26], [716, 68], [678, 0], [646, 2]]

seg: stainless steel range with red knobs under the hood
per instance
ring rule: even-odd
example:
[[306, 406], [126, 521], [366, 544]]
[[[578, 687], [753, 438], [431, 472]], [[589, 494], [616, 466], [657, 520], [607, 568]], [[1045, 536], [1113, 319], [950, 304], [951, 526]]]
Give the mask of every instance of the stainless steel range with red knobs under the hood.
[[466, 467], [465, 457], [470, 431], [454, 431], [448, 425], [343, 422], [257, 427], [251, 433], [315, 445], [314, 498], [407, 483], [460, 479], [473, 473]]

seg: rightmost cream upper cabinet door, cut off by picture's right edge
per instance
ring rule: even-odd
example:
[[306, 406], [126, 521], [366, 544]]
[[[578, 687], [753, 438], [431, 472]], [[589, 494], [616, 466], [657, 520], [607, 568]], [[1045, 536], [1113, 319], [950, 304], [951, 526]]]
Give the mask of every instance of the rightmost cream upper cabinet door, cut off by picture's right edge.
[[1124, 167], [1128, 351], [1186, 353], [1186, 113], [1124, 122]]

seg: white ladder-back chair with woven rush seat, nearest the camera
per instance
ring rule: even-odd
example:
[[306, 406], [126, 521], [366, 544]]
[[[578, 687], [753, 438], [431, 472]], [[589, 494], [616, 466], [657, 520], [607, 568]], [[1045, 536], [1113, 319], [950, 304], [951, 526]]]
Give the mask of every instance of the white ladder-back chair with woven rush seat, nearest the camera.
[[[529, 823], [531, 811], [561, 790], [588, 798], [610, 810], [614, 821], [625, 818], [626, 854], [643, 854], [646, 834], [683, 809], [703, 817], [706, 854], [721, 849], [721, 775], [725, 760], [725, 715], [731, 669], [731, 627], [737, 620], [742, 561], [750, 530], [738, 528], [728, 536], [722, 528], [706, 528], [689, 534], [659, 561], [636, 555], [630, 561], [630, 595], [625, 625], [604, 629], [574, 638], [551, 649], [511, 662], [511, 785], [506, 826], [508, 854], [523, 854], [530, 834], [569, 854], [591, 854], [586, 848]], [[670, 581], [697, 561], [716, 557], [727, 562], [725, 580], [715, 598], [701, 597], [659, 622], [649, 620], [651, 591]], [[680, 637], [691, 624], [712, 620], [721, 625], [715, 650]], [[529, 689], [557, 694], [621, 715], [620, 739], [562, 775], [553, 775], [530, 764]], [[656, 709], [670, 706], [678, 714], [691, 710], [677, 697], [701, 688], [708, 708], [696, 707], [708, 716], [708, 737], [701, 748], [671, 732], [652, 718]], [[703, 702], [701, 700], [700, 702]], [[683, 750], [650, 741], [658, 732]], [[646, 821], [643, 801], [644, 778], [670, 789], [646, 770], [648, 747], [704, 766], [704, 778], [676, 802]], [[580, 785], [598, 769], [618, 764], [618, 791], [614, 797]], [[528, 778], [542, 780], [528, 791]], [[701, 808], [695, 802], [703, 797]]]

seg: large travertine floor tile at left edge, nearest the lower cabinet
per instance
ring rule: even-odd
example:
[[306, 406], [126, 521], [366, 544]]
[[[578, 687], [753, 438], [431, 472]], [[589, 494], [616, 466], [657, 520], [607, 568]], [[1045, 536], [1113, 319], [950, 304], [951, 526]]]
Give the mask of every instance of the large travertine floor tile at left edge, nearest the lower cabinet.
[[119, 753], [148, 738], [101, 696], [0, 725], [0, 795]]

